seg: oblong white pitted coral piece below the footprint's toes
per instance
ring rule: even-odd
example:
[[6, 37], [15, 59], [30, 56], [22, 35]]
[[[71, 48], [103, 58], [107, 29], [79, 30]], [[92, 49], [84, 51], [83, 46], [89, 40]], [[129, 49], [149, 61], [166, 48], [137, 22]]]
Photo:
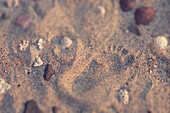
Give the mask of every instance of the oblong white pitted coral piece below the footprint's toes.
[[120, 89], [118, 95], [121, 103], [123, 104], [129, 103], [129, 93], [126, 89]]

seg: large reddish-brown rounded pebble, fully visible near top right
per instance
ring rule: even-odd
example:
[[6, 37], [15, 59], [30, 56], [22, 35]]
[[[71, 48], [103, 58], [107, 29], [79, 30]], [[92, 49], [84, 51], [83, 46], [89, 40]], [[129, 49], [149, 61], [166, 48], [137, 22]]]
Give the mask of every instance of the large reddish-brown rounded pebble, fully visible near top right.
[[149, 24], [155, 15], [155, 10], [151, 7], [141, 7], [135, 11], [136, 24]]

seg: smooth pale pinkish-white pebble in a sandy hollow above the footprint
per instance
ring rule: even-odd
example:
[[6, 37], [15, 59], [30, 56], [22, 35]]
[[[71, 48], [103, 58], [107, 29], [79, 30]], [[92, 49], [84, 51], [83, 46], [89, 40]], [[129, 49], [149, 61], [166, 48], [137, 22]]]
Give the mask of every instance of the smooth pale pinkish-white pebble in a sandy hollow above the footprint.
[[72, 40], [67, 36], [62, 38], [61, 41], [60, 41], [62, 49], [66, 49], [66, 48], [70, 47], [72, 43], [73, 43]]

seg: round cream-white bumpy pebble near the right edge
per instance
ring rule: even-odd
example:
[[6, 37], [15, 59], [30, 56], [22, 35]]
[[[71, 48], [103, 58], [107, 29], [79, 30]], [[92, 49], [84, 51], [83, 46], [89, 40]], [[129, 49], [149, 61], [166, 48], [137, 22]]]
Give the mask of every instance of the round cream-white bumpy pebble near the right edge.
[[164, 49], [168, 46], [168, 40], [164, 36], [158, 36], [154, 39], [154, 46], [156, 48]]

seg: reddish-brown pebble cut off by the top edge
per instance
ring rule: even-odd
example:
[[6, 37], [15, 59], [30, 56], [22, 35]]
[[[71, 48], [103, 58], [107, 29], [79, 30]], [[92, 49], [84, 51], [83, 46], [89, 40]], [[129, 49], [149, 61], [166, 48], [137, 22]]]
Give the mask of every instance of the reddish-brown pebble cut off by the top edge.
[[120, 7], [123, 11], [129, 11], [135, 6], [136, 0], [120, 0]]

